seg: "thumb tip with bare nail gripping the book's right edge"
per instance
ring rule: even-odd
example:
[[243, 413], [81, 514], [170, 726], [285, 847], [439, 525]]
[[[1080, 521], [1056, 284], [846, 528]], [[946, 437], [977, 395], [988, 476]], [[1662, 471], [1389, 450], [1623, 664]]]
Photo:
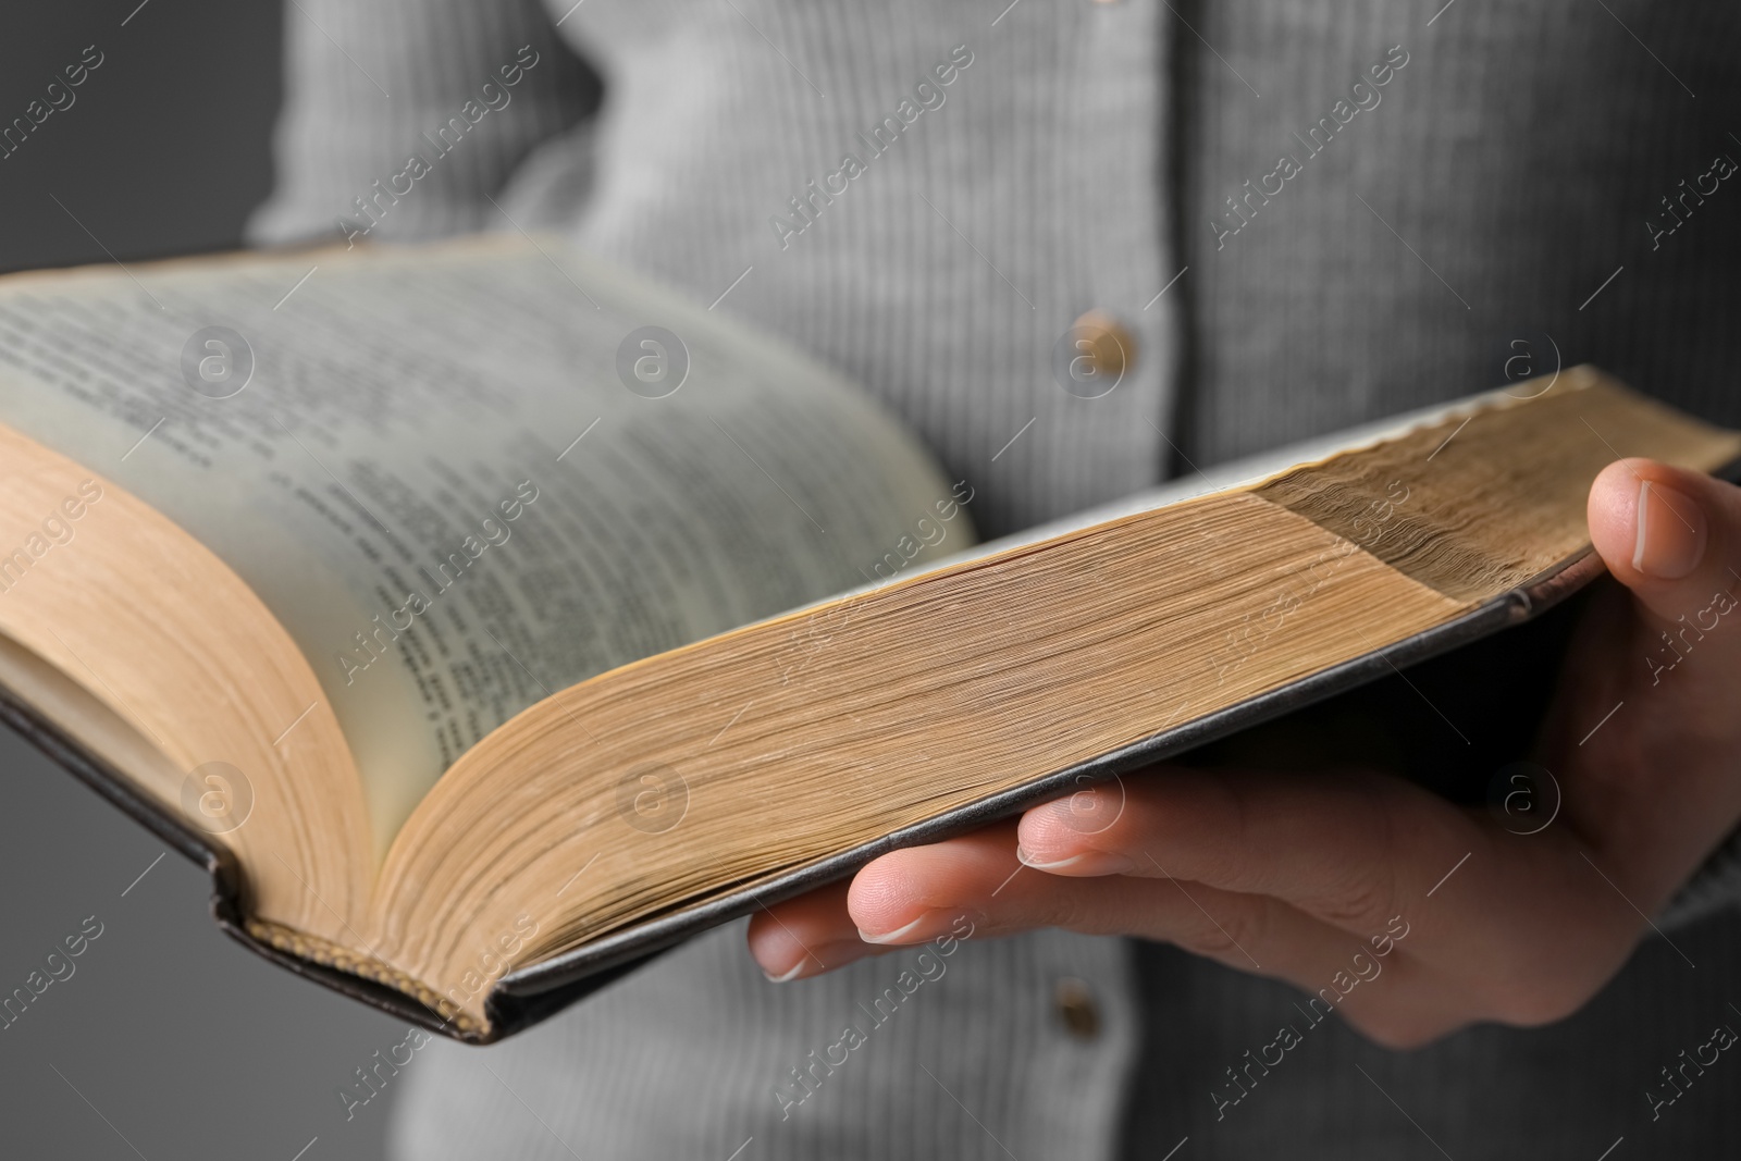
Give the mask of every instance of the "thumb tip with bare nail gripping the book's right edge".
[[1590, 487], [1590, 543], [1661, 621], [1741, 595], [1741, 487], [1656, 460], [1610, 463]]

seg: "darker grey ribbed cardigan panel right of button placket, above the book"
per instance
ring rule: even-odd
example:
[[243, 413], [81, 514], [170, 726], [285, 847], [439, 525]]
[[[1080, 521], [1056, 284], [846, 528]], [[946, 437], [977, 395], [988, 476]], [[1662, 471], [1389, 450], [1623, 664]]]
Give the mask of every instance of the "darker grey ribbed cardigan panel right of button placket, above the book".
[[[1567, 366], [1741, 425], [1741, 186], [1722, 183], [1657, 251], [1645, 230], [1678, 181], [1718, 153], [1741, 162], [1741, 9], [1603, 3], [1457, 0], [1431, 28], [1443, 0], [1180, 9], [1226, 57], [1187, 37], [1177, 61], [1193, 458], [1497, 385], [1530, 332]], [[1311, 155], [1294, 134], [1393, 45], [1408, 64], [1379, 104]], [[1304, 172], [1217, 251], [1210, 221], [1283, 153]], [[1551, 369], [1551, 350], [1536, 357]]]

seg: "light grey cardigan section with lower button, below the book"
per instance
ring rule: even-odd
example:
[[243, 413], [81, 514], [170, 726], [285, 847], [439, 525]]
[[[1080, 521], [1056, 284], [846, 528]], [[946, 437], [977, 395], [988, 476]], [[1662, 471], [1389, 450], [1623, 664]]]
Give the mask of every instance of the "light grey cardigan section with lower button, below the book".
[[[897, 1008], [886, 994], [902, 973], [912, 987], [923, 950], [775, 985], [731, 924], [500, 1048], [425, 1050], [395, 1107], [395, 1156], [724, 1161], [749, 1138], [743, 1158], [1112, 1156], [1140, 1027], [1123, 945], [970, 940], [931, 954], [942, 975]], [[1093, 1043], [1053, 1015], [1060, 976], [1093, 982]], [[865, 1043], [832, 1048], [846, 1025]], [[839, 1067], [810, 1072], [790, 1107], [792, 1069], [830, 1051]]]

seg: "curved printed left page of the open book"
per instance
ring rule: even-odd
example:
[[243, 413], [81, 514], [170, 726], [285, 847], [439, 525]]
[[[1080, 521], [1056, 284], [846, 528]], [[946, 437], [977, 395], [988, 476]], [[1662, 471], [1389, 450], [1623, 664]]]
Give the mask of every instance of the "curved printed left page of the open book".
[[564, 686], [973, 540], [971, 493], [839, 376], [555, 242], [5, 279], [0, 419], [259, 594], [376, 856]]

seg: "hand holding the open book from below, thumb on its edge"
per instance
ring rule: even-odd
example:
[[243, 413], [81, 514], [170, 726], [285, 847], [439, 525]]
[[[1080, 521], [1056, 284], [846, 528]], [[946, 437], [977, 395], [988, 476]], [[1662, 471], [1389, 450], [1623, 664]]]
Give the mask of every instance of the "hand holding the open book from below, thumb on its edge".
[[1541, 729], [1563, 795], [1541, 832], [1382, 773], [1161, 768], [884, 855], [757, 916], [752, 956], [803, 978], [966, 914], [977, 936], [1165, 940], [1334, 1001], [1389, 1046], [1576, 1011], [1741, 820], [1741, 489], [1626, 460], [1588, 515], [1619, 585]]

